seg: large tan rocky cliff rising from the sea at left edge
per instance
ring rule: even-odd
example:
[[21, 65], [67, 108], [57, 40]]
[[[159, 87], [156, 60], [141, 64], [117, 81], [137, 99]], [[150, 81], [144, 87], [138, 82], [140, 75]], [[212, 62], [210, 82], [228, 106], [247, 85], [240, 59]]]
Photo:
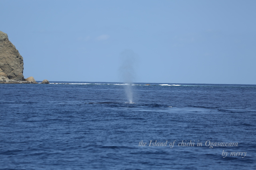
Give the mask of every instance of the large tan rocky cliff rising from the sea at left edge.
[[9, 41], [6, 33], [0, 31], [0, 81], [24, 81], [23, 58]]

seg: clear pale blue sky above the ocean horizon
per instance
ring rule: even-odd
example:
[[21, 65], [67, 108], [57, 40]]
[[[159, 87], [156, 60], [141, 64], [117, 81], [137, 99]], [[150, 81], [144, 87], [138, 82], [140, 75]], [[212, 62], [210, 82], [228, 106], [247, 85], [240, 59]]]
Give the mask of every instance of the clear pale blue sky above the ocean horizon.
[[38, 81], [256, 84], [256, 0], [0, 0], [0, 31]]

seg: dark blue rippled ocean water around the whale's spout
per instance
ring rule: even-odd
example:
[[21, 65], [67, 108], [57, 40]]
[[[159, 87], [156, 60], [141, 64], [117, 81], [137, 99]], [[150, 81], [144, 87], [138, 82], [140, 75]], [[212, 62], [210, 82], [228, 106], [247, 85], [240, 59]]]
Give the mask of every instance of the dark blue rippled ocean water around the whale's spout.
[[256, 85], [57, 83], [0, 84], [0, 169], [256, 169]]

